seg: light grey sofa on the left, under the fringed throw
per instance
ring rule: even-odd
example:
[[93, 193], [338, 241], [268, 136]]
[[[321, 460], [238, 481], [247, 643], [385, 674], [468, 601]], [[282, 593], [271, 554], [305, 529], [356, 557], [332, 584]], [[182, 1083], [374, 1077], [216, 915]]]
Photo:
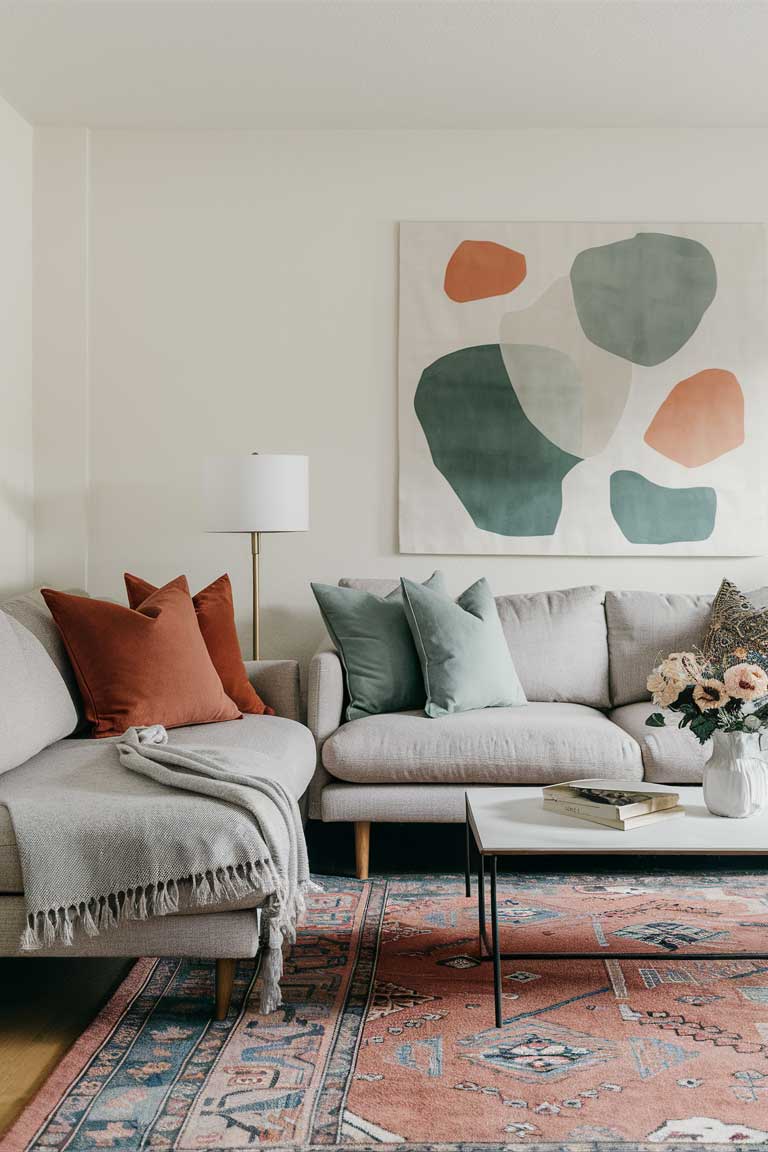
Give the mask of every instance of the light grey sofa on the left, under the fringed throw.
[[[39, 592], [28, 592], [0, 602], [0, 611], [24, 626], [43, 644], [59, 673], [67, 682], [79, 707], [79, 695], [67, 653], [53, 619]], [[0, 653], [0, 659], [3, 653]], [[8, 655], [6, 654], [6, 658]], [[315, 749], [299, 719], [298, 665], [295, 660], [260, 660], [246, 664], [249, 677], [261, 698], [276, 714], [244, 715], [228, 723], [175, 728], [168, 733], [172, 744], [197, 746], [237, 746], [252, 749], [259, 774], [274, 773], [298, 798], [306, 790], [315, 763]], [[20, 677], [25, 669], [18, 669]], [[32, 687], [32, 685], [31, 685]], [[45, 700], [39, 705], [45, 707]], [[13, 721], [2, 718], [3, 723]], [[108, 740], [94, 741], [83, 735], [56, 741], [48, 748], [0, 775], [0, 955], [28, 955], [18, 947], [25, 925], [24, 878], [8, 809], [3, 805], [3, 788], [20, 774], [33, 778], [41, 768], [66, 759], [104, 756]], [[268, 767], [265, 767], [265, 753]], [[180, 802], [196, 803], [185, 793]], [[55, 867], [55, 861], [51, 862]], [[216, 961], [216, 1017], [226, 1015], [234, 963], [257, 955], [259, 943], [258, 896], [222, 902], [215, 910], [188, 911], [147, 920], [131, 920], [98, 937], [81, 934], [73, 947], [48, 948], [45, 955], [78, 956], [193, 956]], [[183, 903], [183, 902], [182, 902]], [[31, 958], [40, 955], [32, 953]]]

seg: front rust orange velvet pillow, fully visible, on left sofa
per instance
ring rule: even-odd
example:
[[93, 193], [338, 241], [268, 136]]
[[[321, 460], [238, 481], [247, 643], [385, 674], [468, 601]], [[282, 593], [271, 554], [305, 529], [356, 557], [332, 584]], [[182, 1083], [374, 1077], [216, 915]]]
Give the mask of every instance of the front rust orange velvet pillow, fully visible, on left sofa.
[[238, 720], [197, 624], [189, 592], [160, 589], [140, 608], [44, 588], [75, 668], [93, 736], [132, 726]]

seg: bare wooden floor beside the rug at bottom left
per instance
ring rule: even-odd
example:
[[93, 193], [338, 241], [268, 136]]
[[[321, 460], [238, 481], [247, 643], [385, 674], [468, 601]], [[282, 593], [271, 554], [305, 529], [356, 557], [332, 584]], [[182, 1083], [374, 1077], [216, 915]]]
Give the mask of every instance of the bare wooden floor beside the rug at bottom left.
[[0, 958], [0, 1132], [123, 978], [128, 960]]

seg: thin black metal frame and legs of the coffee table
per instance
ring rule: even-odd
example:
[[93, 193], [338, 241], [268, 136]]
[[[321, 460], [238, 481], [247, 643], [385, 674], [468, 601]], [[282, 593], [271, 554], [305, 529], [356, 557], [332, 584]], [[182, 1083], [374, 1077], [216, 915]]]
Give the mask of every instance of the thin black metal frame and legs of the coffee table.
[[[503, 1024], [501, 1005], [501, 962], [502, 960], [659, 960], [657, 952], [501, 952], [499, 939], [499, 901], [497, 901], [497, 861], [500, 855], [514, 852], [484, 852], [478, 843], [472, 821], [470, 820], [470, 798], [465, 794], [465, 862], [464, 885], [467, 899], [472, 895], [472, 861], [471, 850], [474, 844], [478, 858], [478, 929], [479, 958], [493, 963], [493, 993], [496, 1028]], [[491, 940], [486, 923], [485, 862], [491, 863]], [[675, 952], [663, 956], [669, 960], [768, 960], [766, 952]]]

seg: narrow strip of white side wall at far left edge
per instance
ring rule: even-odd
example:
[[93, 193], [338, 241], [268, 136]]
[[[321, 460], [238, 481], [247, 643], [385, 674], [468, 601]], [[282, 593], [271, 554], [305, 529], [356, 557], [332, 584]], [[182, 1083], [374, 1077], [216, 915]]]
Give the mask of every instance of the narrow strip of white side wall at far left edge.
[[0, 593], [32, 578], [32, 129], [0, 100]]

